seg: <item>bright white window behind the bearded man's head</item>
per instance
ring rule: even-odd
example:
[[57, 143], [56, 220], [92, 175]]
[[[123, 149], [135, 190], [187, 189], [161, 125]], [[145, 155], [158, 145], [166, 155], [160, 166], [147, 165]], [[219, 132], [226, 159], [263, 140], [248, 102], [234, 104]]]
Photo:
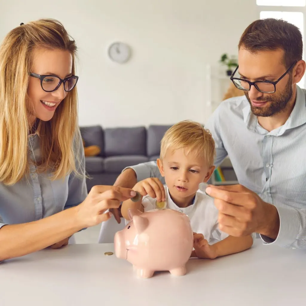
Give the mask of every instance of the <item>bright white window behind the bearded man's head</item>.
[[[258, 6], [305, 6], [306, 0], [256, 0], [256, 4]], [[263, 8], [262, 8], [263, 9]], [[275, 11], [261, 11], [259, 13], [260, 19], [265, 18], [276, 18], [276, 19], [283, 19], [285, 21], [288, 21], [297, 28], [299, 28], [303, 44], [304, 44], [304, 14], [302, 12], [299, 12], [298, 8], [296, 8], [297, 12], [293, 12], [292, 8], [288, 8], [286, 11], [285, 7], [282, 7], [281, 11], [278, 11], [275, 9]], [[303, 52], [304, 54], [304, 52]], [[303, 55], [304, 59], [304, 55]], [[302, 77], [299, 83], [297, 85], [300, 88], [305, 88], [305, 75]]]

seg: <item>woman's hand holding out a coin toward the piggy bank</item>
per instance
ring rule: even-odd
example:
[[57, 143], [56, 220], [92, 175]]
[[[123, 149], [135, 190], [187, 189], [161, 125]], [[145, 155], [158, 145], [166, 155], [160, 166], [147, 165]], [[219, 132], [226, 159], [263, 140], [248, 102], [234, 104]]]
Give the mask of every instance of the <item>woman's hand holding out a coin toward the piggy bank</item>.
[[111, 217], [112, 208], [118, 208], [121, 201], [136, 196], [136, 192], [119, 186], [93, 186], [86, 199], [76, 207], [76, 217], [82, 227], [95, 226]]

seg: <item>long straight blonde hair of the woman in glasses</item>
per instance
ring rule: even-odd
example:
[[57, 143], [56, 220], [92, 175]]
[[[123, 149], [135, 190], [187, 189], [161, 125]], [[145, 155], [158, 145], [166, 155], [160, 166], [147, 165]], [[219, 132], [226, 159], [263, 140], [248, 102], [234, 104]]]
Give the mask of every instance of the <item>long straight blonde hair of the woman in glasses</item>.
[[[27, 95], [34, 48], [68, 50], [75, 74], [76, 44], [54, 19], [31, 21], [11, 30], [0, 46], [0, 182], [13, 185], [29, 173]], [[80, 142], [76, 87], [68, 92], [50, 121], [38, 121], [41, 160], [39, 171], [51, 169], [51, 179], [76, 170]]]

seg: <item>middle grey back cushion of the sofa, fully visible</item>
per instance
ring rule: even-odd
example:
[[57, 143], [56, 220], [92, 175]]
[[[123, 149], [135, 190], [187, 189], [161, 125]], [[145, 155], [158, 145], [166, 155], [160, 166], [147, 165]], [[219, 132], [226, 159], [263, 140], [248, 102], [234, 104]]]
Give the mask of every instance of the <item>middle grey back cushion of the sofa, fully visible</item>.
[[146, 155], [145, 127], [107, 128], [104, 130], [105, 156]]

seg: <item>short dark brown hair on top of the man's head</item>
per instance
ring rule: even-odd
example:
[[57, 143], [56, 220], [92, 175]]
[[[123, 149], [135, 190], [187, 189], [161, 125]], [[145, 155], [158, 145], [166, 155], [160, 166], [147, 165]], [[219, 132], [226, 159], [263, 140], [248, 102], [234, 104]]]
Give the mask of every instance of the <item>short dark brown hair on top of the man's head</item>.
[[284, 64], [289, 68], [300, 61], [303, 55], [303, 40], [300, 30], [282, 19], [259, 19], [243, 32], [239, 45], [250, 52], [284, 50]]

